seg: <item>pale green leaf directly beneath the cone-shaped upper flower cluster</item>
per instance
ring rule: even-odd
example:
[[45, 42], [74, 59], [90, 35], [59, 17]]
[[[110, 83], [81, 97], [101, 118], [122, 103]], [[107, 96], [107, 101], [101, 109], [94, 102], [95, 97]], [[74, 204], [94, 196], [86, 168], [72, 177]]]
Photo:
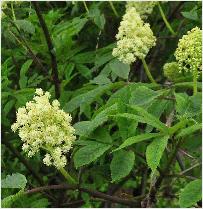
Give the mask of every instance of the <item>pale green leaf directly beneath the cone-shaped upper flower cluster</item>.
[[128, 79], [128, 75], [130, 72], [130, 66], [122, 63], [121, 61], [114, 59], [109, 64], [112, 72], [115, 73], [118, 77], [123, 79]]

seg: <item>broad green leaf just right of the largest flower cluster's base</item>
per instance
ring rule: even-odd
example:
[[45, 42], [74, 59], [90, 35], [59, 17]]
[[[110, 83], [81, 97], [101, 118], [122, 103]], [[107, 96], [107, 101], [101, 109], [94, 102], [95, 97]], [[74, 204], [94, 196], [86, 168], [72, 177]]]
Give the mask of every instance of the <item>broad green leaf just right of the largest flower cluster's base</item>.
[[111, 145], [109, 144], [91, 142], [87, 146], [80, 148], [74, 155], [75, 167], [78, 168], [90, 164], [103, 155], [110, 147]]

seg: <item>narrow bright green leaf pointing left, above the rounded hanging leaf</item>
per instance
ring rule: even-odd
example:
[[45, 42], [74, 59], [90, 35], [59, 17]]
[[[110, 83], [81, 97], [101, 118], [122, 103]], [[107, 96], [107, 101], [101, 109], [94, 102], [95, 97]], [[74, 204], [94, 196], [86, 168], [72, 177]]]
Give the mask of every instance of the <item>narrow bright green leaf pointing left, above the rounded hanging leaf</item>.
[[160, 137], [160, 135], [161, 135], [160, 133], [148, 133], [148, 134], [140, 134], [137, 136], [130, 137], [130, 138], [126, 139], [123, 142], [123, 144], [121, 144], [119, 146], [119, 148], [113, 150], [113, 152], [123, 149], [125, 147], [128, 147], [128, 146], [135, 144], [135, 143], [139, 143], [139, 142], [142, 142], [142, 141], [154, 138], [154, 137]]

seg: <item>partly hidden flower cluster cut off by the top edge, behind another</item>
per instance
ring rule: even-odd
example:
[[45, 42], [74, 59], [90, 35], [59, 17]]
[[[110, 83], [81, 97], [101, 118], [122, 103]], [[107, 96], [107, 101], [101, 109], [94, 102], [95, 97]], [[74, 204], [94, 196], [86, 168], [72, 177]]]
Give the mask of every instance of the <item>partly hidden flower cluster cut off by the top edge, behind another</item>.
[[140, 17], [144, 20], [152, 13], [157, 2], [155, 1], [129, 1], [126, 4], [126, 10], [135, 8]]

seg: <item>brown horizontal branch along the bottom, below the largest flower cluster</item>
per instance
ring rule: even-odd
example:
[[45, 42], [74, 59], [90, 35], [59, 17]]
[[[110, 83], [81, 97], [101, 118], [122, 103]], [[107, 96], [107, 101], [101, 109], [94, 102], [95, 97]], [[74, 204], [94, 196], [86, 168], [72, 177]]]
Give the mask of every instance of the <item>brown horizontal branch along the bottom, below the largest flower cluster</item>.
[[90, 194], [93, 197], [97, 197], [97, 198], [101, 198], [104, 200], [108, 200], [114, 203], [119, 203], [119, 204], [123, 204], [123, 205], [128, 205], [128, 206], [137, 206], [138, 205], [138, 200], [140, 200], [141, 198], [143, 198], [143, 196], [137, 196], [135, 197], [133, 200], [127, 200], [127, 199], [122, 199], [116, 196], [111, 196], [111, 195], [107, 195], [105, 193], [102, 192], [98, 192], [98, 191], [93, 191], [87, 188], [81, 188], [78, 186], [70, 186], [70, 185], [66, 185], [66, 184], [60, 184], [60, 185], [49, 185], [49, 186], [44, 186], [44, 187], [38, 187], [38, 188], [34, 188], [31, 190], [28, 190], [26, 192], [26, 194], [33, 194], [33, 193], [37, 193], [37, 192], [42, 192], [42, 191], [46, 191], [46, 190], [79, 190], [81, 192], [86, 192], [88, 194]]

